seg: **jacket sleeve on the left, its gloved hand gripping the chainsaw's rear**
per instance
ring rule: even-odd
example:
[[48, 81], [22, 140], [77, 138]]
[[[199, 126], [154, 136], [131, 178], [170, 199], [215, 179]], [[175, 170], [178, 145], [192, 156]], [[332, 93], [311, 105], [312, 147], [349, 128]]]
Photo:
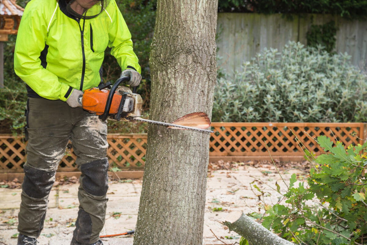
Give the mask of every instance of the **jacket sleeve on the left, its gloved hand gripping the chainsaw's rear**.
[[[47, 21], [42, 8], [33, 5], [27, 4], [19, 25], [14, 51], [15, 73], [39, 96], [66, 101], [73, 88], [59, 82], [54, 73], [41, 65], [40, 53], [46, 46]], [[53, 10], [50, 11], [52, 14]]]

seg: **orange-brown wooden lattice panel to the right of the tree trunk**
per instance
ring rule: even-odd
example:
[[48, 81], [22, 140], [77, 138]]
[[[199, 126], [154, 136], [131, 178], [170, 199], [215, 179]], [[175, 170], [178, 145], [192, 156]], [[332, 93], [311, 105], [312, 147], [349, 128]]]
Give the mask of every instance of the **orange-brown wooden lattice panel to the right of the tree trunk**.
[[[212, 123], [211, 156], [304, 155], [304, 146], [316, 154], [323, 149], [313, 138], [326, 135], [345, 147], [363, 141], [363, 123]], [[361, 138], [358, 138], [358, 137]], [[299, 139], [296, 141], [296, 137]], [[299, 144], [304, 144], [302, 148]]]

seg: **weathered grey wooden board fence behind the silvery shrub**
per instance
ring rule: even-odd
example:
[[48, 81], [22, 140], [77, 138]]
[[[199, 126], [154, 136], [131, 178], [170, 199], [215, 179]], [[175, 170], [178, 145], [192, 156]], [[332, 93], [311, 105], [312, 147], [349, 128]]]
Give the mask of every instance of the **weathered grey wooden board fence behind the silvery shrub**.
[[365, 69], [367, 64], [367, 21], [349, 21], [339, 16], [281, 14], [219, 13], [217, 31], [218, 64], [227, 72], [240, 71], [244, 61], [266, 48], [282, 50], [288, 41], [307, 44], [306, 33], [312, 24], [322, 25], [334, 20], [337, 31], [337, 53], [348, 53], [352, 63]]

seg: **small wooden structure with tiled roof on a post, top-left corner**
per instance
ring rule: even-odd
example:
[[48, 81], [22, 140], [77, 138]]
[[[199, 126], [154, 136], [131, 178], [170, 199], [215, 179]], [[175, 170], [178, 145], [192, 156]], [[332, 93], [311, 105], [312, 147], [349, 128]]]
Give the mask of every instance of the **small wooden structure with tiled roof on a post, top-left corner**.
[[23, 11], [15, 0], [0, 0], [0, 87], [4, 86], [4, 42], [18, 33]]

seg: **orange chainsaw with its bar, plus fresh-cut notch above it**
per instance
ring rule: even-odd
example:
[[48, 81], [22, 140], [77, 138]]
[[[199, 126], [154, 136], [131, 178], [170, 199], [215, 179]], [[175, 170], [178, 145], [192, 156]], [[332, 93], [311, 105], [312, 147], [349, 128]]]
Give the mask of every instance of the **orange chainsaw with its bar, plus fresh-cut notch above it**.
[[210, 120], [203, 112], [185, 115], [175, 120], [174, 123], [141, 118], [143, 100], [141, 96], [137, 94], [137, 87], [132, 87], [132, 91], [127, 87], [119, 87], [121, 83], [129, 80], [129, 76], [124, 76], [117, 79], [113, 86], [108, 82], [98, 87], [84, 90], [83, 97], [80, 98], [83, 109], [99, 115], [99, 118], [103, 121], [107, 118], [125, 122], [136, 120], [168, 126], [172, 129], [189, 129], [209, 133], [214, 132], [206, 129], [210, 127]]

